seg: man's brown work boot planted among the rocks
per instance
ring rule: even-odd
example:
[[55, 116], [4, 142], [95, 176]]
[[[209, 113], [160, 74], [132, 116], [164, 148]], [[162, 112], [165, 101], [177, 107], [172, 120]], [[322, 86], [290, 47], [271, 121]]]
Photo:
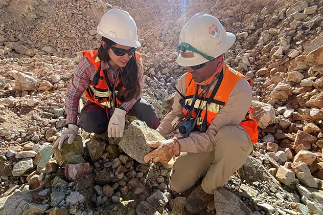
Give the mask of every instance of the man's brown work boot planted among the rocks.
[[191, 214], [197, 214], [213, 199], [213, 194], [207, 194], [199, 185], [195, 190], [189, 194], [186, 199], [185, 208]]

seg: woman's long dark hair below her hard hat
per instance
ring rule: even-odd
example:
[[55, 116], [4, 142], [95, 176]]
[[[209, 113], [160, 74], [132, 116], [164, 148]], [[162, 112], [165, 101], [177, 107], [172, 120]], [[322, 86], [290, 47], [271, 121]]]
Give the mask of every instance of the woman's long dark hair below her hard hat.
[[[116, 44], [115, 42], [105, 37], [102, 37], [102, 41], [110, 46], [114, 46]], [[109, 46], [104, 48], [102, 44], [100, 45], [97, 56], [101, 61], [105, 61], [107, 63], [110, 61], [108, 50]], [[128, 61], [127, 65], [122, 68], [122, 79], [120, 84], [121, 87], [124, 87], [125, 89], [122, 91], [119, 90], [116, 95], [120, 102], [128, 102], [132, 98], [138, 97], [138, 94], [141, 90], [141, 86], [138, 80], [138, 72], [139, 67], [136, 59], [136, 54], [134, 54]]]

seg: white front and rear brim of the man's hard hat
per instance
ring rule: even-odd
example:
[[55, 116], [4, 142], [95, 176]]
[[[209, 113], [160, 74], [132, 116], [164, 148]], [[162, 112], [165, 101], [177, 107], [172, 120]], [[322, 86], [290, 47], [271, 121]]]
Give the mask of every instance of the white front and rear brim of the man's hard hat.
[[[217, 47], [214, 47], [214, 50], [211, 51], [210, 53], [205, 53], [208, 56], [211, 56], [213, 58], [219, 57], [221, 54], [225, 53], [228, 51], [233, 43], [235, 42], [235, 35], [232, 33], [227, 32], [226, 38], [223, 40], [222, 43], [217, 45]], [[198, 64], [203, 64], [208, 62], [207, 59], [202, 57], [201, 55], [194, 53], [193, 58], [183, 58], [181, 54], [178, 55], [176, 59], [176, 63], [179, 64], [180, 66], [193, 66], [193, 65], [198, 65]]]

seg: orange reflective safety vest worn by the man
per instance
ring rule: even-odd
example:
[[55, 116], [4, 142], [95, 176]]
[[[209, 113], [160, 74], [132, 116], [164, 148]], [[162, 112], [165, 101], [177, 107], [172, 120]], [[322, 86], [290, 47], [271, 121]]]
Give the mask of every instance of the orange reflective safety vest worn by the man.
[[[206, 116], [207, 127], [212, 123], [212, 120], [216, 117], [217, 113], [227, 105], [229, 95], [234, 85], [241, 79], [246, 77], [230, 68], [228, 65], [225, 65], [225, 71], [223, 74], [222, 82], [218, 88], [218, 91], [214, 95], [213, 98], [210, 98], [211, 102], [208, 104], [209, 97], [212, 94], [214, 87], [216, 86], [216, 82], [211, 84], [207, 93], [201, 95], [201, 89], [194, 82], [193, 77], [190, 73], [186, 73], [186, 94], [185, 94], [185, 105], [188, 108], [192, 108], [193, 99], [195, 100], [194, 109], [191, 114], [188, 114], [188, 110], [183, 108], [183, 113], [186, 117], [196, 118], [197, 113], [201, 109], [200, 115], [197, 119], [197, 127], [201, 128], [203, 121]], [[252, 80], [247, 79], [250, 86], [252, 86]], [[196, 89], [198, 88], [197, 98], [193, 98], [196, 95]], [[244, 120], [239, 124], [242, 126], [249, 134], [253, 143], [257, 143], [258, 141], [258, 124], [257, 121], [253, 118], [252, 114], [254, 113], [254, 109], [252, 107], [249, 108], [248, 113], [246, 114]]]

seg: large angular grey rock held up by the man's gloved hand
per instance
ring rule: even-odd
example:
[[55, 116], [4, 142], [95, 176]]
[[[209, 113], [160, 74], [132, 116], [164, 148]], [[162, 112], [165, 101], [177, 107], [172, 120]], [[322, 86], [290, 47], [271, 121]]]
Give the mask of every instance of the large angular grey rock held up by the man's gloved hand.
[[119, 146], [130, 157], [144, 164], [143, 157], [153, 150], [146, 143], [157, 140], [165, 140], [165, 138], [156, 130], [149, 128], [144, 122], [135, 120], [124, 132]]

